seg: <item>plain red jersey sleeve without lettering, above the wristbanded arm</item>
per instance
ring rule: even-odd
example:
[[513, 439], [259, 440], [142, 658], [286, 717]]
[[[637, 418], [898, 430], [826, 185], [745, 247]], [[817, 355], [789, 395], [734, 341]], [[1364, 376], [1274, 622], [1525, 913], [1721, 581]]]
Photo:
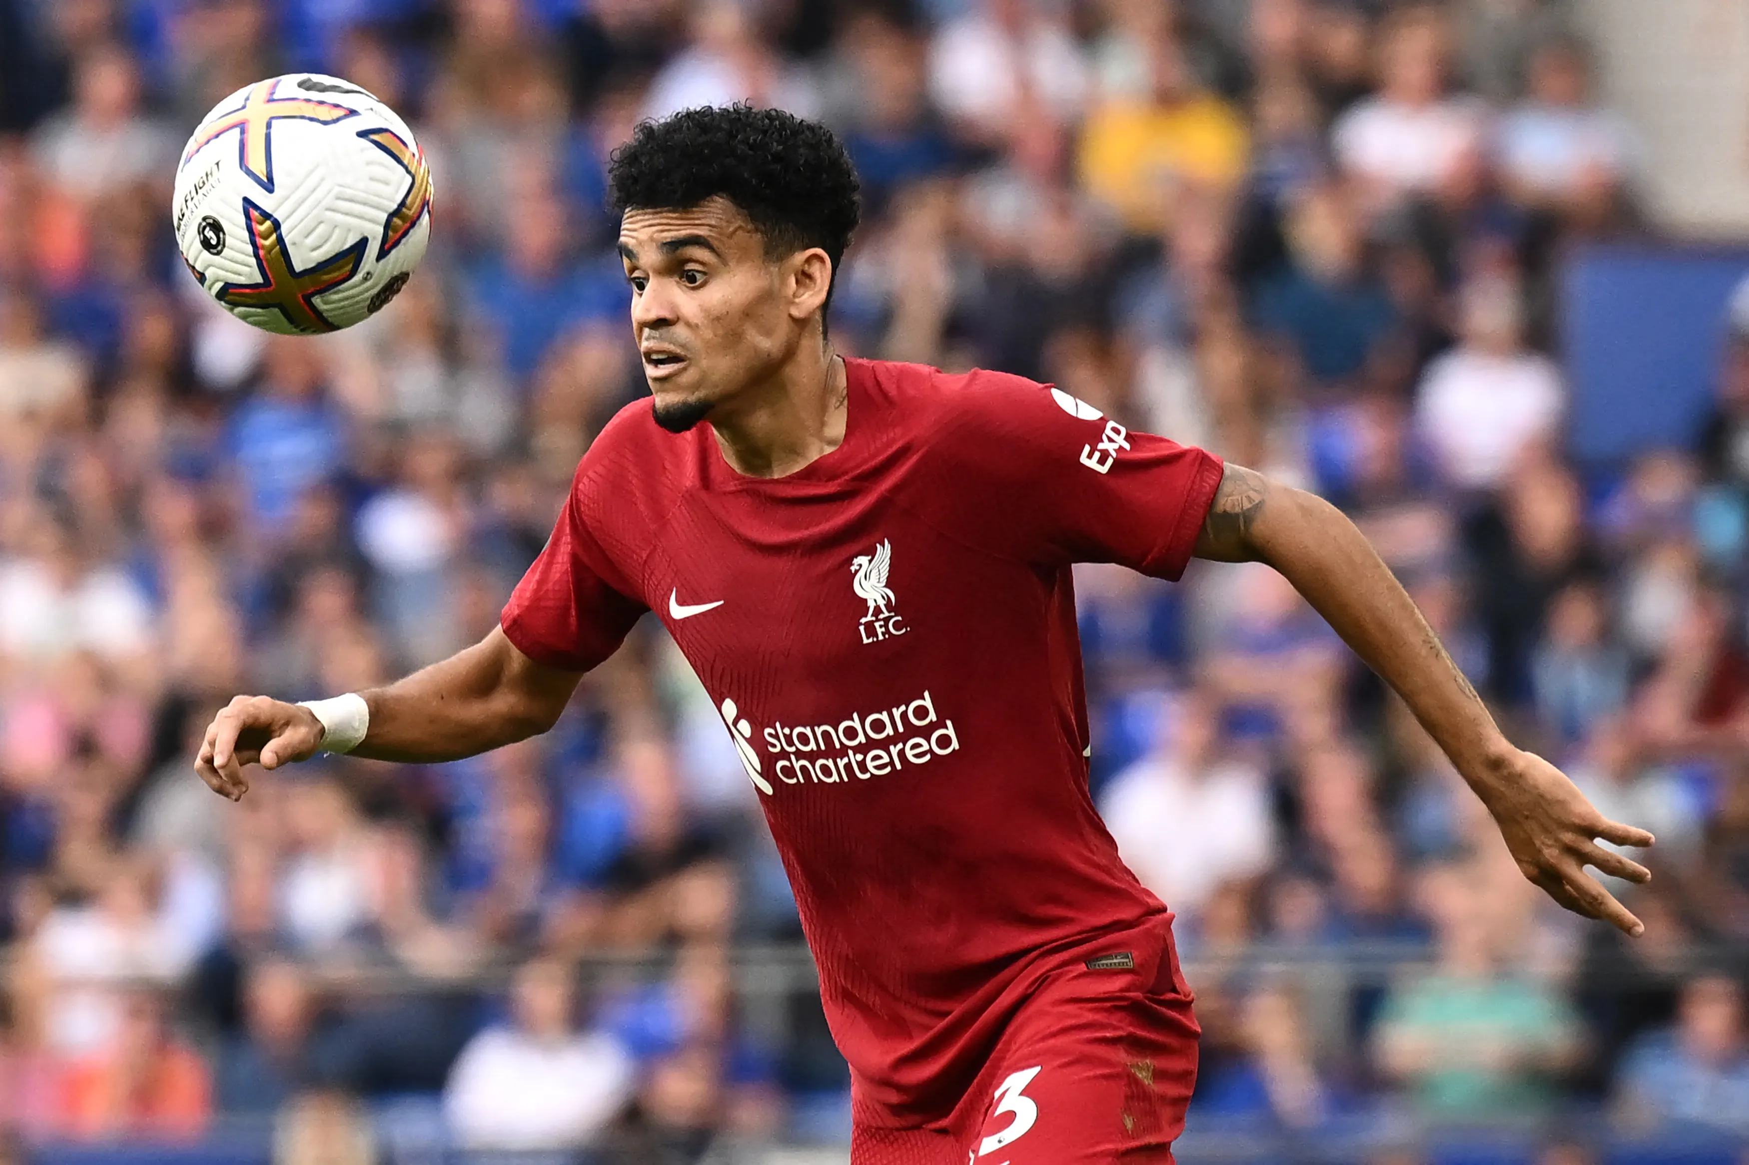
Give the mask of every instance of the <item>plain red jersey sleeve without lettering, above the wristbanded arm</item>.
[[516, 650], [547, 667], [589, 671], [647, 610], [614, 569], [586, 520], [589, 479], [579, 470], [546, 550], [516, 583], [498, 625]]

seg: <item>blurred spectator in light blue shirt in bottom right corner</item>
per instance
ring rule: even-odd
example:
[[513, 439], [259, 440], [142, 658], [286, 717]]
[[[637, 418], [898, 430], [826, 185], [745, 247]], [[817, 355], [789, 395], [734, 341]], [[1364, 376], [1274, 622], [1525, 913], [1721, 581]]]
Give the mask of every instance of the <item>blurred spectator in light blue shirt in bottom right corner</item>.
[[1676, 1027], [1651, 1032], [1628, 1050], [1618, 1088], [1634, 1116], [1749, 1134], [1742, 983], [1726, 975], [1690, 980]]

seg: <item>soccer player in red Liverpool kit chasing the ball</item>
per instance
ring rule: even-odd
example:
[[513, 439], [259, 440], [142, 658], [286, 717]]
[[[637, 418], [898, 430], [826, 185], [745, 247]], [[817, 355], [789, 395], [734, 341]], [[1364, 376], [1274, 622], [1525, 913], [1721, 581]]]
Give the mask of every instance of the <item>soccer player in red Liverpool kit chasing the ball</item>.
[[[1560, 905], [1649, 845], [1513, 748], [1334, 507], [999, 372], [852, 360], [833, 134], [689, 110], [612, 161], [652, 403], [589, 447], [500, 627], [399, 683], [238, 697], [219, 793], [318, 749], [444, 762], [549, 728], [654, 611], [722, 713], [850, 1062], [855, 1165], [1170, 1162], [1196, 1071], [1172, 913], [1088, 798], [1070, 564], [1268, 562], [1376, 669]], [[1161, 837], [1172, 845], [1172, 837]]]

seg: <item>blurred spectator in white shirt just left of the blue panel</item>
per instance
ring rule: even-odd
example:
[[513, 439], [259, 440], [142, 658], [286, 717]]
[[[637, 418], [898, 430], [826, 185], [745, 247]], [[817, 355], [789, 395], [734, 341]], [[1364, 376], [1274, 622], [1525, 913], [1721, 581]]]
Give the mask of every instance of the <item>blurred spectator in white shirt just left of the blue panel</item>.
[[1529, 447], [1553, 437], [1565, 391], [1555, 362], [1523, 346], [1515, 285], [1467, 286], [1460, 332], [1422, 376], [1415, 426], [1446, 482], [1495, 489]]

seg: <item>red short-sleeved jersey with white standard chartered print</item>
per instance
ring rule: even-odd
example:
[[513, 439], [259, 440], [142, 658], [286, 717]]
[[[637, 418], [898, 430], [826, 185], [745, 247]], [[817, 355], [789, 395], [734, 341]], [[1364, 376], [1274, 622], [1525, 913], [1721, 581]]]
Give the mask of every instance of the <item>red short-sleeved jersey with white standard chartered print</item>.
[[1037, 975], [1170, 920], [1088, 796], [1069, 568], [1177, 578], [1223, 466], [1021, 377], [845, 363], [843, 444], [782, 479], [621, 410], [502, 622], [584, 671], [661, 617], [764, 807], [859, 1104], [925, 1121]]

